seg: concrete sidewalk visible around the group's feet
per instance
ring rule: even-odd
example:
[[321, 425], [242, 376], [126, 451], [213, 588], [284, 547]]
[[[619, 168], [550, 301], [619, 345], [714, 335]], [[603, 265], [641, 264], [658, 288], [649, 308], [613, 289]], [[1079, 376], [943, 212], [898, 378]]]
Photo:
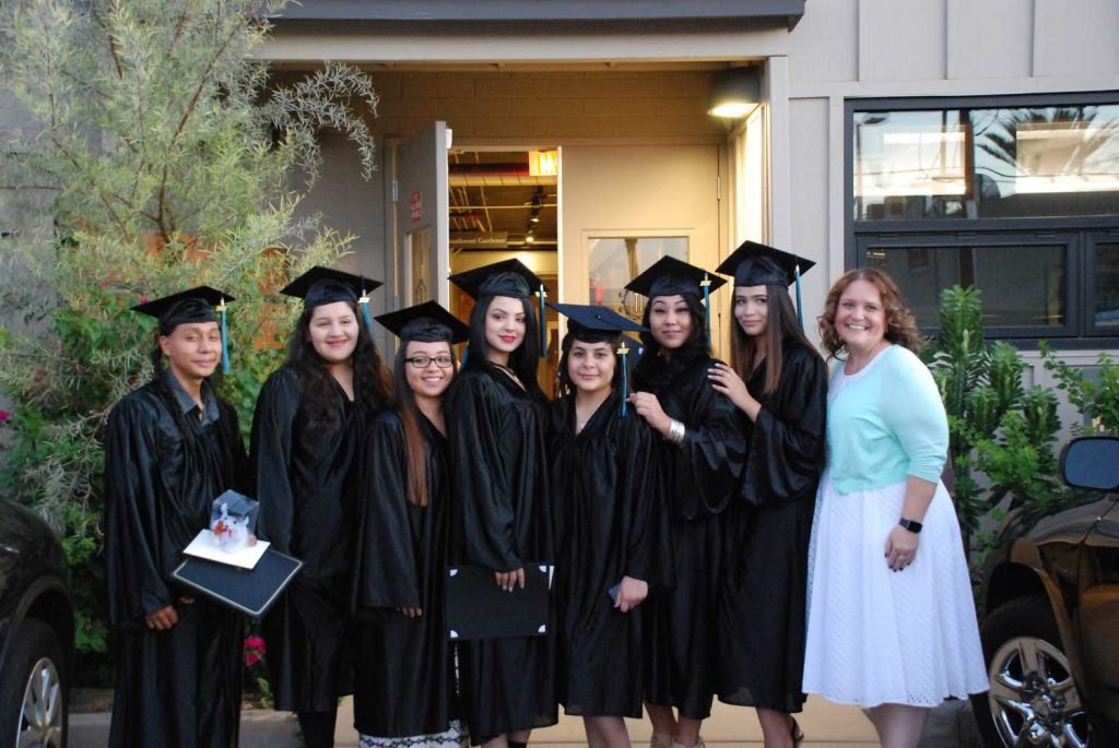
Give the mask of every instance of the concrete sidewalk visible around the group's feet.
[[[840, 707], [814, 697], [808, 700], [798, 721], [805, 731], [806, 748], [872, 748], [878, 745], [871, 721], [855, 707]], [[633, 745], [647, 745], [650, 732], [648, 721], [627, 722]], [[345, 699], [338, 711], [336, 748], [357, 748], [357, 733], [352, 723], [354, 704], [350, 699]], [[704, 740], [713, 747], [762, 745], [761, 729], [752, 709], [716, 703], [703, 732]], [[69, 748], [105, 748], [107, 740], [107, 712], [70, 717]], [[294, 717], [251, 710], [241, 718], [239, 745], [241, 748], [301, 748], [302, 744]], [[555, 727], [535, 731], [530, 745], [548, 748], [585, 746], [583, 722], [577, 718], [561, 717]], [[970, 704], [966, 701], [950, 701], [934, 709], [921, 748], [981, 748]]]

